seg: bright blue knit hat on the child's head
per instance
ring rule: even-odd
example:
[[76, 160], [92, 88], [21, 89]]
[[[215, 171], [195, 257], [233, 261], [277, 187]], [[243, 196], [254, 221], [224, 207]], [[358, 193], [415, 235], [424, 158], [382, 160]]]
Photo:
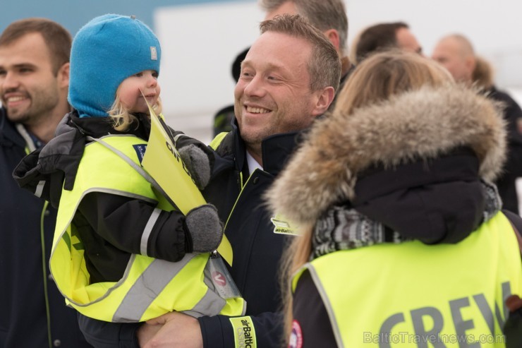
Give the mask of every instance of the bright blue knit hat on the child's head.
[[80, 117], [108, 116], [120, 83], [144, 70], [159, 73], [162, 49], [134, 16], [107, 14], [78, 31], [71, 47], [68, 101]]

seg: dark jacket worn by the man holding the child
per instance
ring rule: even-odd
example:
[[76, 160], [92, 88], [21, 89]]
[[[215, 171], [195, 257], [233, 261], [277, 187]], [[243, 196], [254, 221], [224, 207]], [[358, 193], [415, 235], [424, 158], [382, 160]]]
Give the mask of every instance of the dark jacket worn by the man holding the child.
[[[299, 133], [285, 133], [263, 140], [264, 170], [257, 169], [249, 177], [245, 143], [234, 125], [216, 149], [218, 157], [213, 178], [203, 192], [226, 221], [225, 234], [233, 249], [233, 267], [229, 270], [247, 301], [246, 315], [253, 320], [257, 347], [281, 344], [278, 271], [281, 253], [289, 238], [274, 234], [270, 220], [273, 215], [267, 212], [263, 195], [300, 139]], [[229, 318], [202, 317], [200, 325], [204, 347], [234, 347]]]

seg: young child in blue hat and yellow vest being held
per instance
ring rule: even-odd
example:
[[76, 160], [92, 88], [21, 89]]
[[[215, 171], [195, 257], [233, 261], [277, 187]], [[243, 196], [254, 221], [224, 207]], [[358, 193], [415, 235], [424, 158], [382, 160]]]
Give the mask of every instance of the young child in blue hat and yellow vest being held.
[[[223, 234], [217, 210], [174, 210], [140, 165], [150, 133], [147, 102], [161, 112], [160, 58], [157, 37], [134, 17], [87, 23], [71, 50], [74, 111], [15, 176], [59, 208], [50, 268], [80, 313], [114, 322], [173, 310], [240, 316], [245, 301], [210, 254]], [[177, 145], [209, 151], [188, 137]], [[214, 282], [215, 272], [231, 286]]]

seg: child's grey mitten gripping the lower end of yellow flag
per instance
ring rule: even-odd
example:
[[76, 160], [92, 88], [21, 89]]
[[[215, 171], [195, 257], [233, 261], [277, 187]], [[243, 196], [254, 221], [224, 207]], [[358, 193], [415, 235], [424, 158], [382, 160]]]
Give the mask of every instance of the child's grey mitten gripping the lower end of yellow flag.
[[200, 205], [185, 217], [188, 234], [192, 239], [192, 251], [209, 253], [217, 249], [223, 238], [223, 225], [212, 204]]

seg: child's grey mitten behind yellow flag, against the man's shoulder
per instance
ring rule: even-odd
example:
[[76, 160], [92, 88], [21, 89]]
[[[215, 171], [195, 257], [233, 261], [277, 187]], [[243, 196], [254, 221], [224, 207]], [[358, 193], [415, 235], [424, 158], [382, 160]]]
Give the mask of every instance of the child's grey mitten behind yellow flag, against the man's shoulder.
[[181, 160], [185, 164], [185, 167], [190, 172], [190, 176], [195, 181], [196, 186], [200, 190], [207, 186], [210, 180], [211, 163], [214, 158], [210, 152], [205, 152], [197, 145], [187, 145], [178, 150]]

